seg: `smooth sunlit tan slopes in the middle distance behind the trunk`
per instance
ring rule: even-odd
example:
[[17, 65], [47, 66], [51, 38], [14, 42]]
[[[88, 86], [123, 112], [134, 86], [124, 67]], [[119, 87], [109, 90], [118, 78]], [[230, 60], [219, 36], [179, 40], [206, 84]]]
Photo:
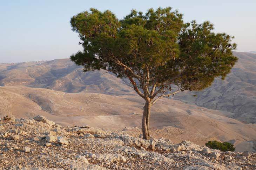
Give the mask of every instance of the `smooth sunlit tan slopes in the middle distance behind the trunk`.
[[[143, 100], [135, 95], [64, 93], [43, 88], [0, 87], [0, 114], [34, 117], [42, 114], [61, 125], [83, 125], [112, 129], [141, 127]], [[134, 114], [135, 112], [135, 114]], [[169, 134], [180, 129], [183, 136]], [[161, 99], [151, 112], [151, 128], [167, 127], [156, 135], [174, 142], [190, 140], [203, 145], [210, 139], [234, 140], [235, 145], [256, 140], [251, 125], [227, 118], [221, 111]], [[154, 130], [152, 130], [152, 134]], [[185, 135], [186, 134], [186, 135]], [[160, 137], [161, 137], [160, 136]]]

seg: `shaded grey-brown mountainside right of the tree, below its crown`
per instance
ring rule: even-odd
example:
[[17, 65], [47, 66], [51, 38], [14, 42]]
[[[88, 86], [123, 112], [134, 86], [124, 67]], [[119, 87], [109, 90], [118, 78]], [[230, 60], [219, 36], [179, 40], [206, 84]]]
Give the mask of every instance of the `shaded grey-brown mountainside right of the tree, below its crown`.
[[225, 80], [215, 79], [207, 89], [175, 97], [209, 109], [232, 112], [227, 116], [256, 123], [256, 54], [234, 52], [234, 55], [238, 62]]

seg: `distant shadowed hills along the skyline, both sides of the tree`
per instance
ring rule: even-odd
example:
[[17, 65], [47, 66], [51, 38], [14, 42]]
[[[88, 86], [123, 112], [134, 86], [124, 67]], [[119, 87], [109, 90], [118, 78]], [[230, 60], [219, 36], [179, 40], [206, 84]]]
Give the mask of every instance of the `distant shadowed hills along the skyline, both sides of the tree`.
[[[238, 62], [226, 79], [211, 87], [174, 96], [209, 109], [228, 111], [228, 117], [256, 123], [256, 54], [234, 52]], [[121, 79], [106, 71], [84, 73], [69, 59], [0, 64], [0, 86], [47, 88], [67, 93], [134, 94]], [[197, 95], [193, 97], [193, 95]]]

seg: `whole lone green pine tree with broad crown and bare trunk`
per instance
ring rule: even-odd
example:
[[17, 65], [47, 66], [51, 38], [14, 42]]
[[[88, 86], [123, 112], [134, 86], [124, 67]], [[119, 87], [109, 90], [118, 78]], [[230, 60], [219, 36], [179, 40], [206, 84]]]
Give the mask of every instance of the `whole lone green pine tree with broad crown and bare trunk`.
[[71, 60], [85, 72], [104, 69], [126, 78], [145, 100], [144, 139], [149, 139], [150, 108], [157, 100], [204, 89], [215, 77], [224, 79], [237, 61], [231, 51], [234, 37], [214, 33], [208, 21], [184, 23], [171, 7], [150, 8], [146, 14], [133, 9], [121, 20], [109, 10], [91, 8], [73, 16], [70, 24], [83, 46]]

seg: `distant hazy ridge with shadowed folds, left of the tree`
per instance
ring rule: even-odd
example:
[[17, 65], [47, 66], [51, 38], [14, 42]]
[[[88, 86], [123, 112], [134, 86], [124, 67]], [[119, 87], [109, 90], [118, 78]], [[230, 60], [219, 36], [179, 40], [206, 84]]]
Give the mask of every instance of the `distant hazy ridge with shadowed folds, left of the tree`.
[[[80, 91], [127, 94], [131, 88], [121, 79], [105, 71], [83, 72], [69, 59], [57, 59], [41, 64], [27, 63], [27, 67], [8, 69], [6, 64], [0, 64], [0, 86], [26, 86], [47, 88], [78, 93]], [[14, 67], [15, 65], [12, 65]]]

